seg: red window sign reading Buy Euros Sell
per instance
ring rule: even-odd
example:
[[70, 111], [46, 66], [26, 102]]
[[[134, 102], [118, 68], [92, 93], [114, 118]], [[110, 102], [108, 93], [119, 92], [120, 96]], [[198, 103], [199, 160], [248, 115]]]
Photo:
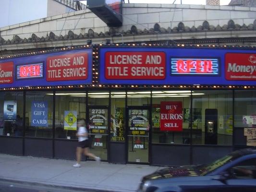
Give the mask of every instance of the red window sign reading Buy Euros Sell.
[[182, 101], [162, 101], [160, 104], [160, 131], [183, 131]]

